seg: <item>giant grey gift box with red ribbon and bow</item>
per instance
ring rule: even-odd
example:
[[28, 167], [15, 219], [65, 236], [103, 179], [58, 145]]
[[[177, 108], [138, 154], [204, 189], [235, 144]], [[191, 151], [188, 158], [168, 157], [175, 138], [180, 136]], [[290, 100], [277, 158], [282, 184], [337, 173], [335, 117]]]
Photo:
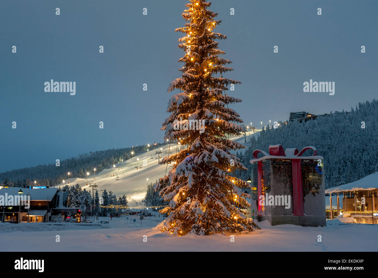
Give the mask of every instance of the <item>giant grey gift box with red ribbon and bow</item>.
[[[313, 150], [311, 156], [302, 156]], [[258, 158], [257, 154], [264, 156]], [[323, 157], [316, 148], [283, 151], [281, 145], [269, 146], [269, 154], [255, 150], [252, 180], [257, 219], [271, 225], [294, 224], [325, 226]]]

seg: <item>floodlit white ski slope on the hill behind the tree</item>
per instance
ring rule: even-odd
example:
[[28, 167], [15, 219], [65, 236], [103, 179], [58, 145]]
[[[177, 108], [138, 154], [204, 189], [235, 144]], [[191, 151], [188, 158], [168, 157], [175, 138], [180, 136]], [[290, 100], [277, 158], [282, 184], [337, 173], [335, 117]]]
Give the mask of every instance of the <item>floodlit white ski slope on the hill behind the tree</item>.
[[[249, 138], [256, 136], [257, 134], [259, 134], [259, 132], [255, 132], [254, 134], [252, 132], [247, 132], [247, 142]], [[242, 144], [244, 144], [245, 141], [244, 135], [240, 137], [230, 137], [229, 139]], [[108, 192], [113, 191], [113, 194], [117, 197], [125, 194], [130, 206], [143, 205], [141, 200], [146, 196], [147, 178], [149, 178], [148, 183], [155, 182], [156, 180], [159, 180], [159, 178], [164, 177], [171, 167], [169, 164], [158, 164], [156, 151], [160, 151], [160, 148], [162, 148], [160, 157], [164, 158], [168, 156], [168, 150], [170, 147], [172, 149], [170, 150], [169, 155], [176, 154], [176, 147], [178, 146], [180, 145], [166, 144], [150, 150], [148, 156], [147, 152], [144, 152], [143, 154], [136, 155], [122, 163], [115, 164], [116, 167], [114, 169], [104, 169], [101, 172], [96, 173], [96, 175], [93, 175], [93, 171], [91, 171], [91, 175], [88, 176], [88, 181], [87, 179], [70, 178], [55, 187], [62, 188], [65, 185], [73, 186], [78, 183], [82, 189], [85, 188], [87, 191], [92, 191], [92, 188], [89, 185], [90, 183], [96, 183], [99, 196], [101, 196], [101, 190], [106, 189]], [[184, 148], [186, 148], [186, 146]], [[245, 149], [238, 151], [244, 152]], [[139, 160], [137, 160], [137, 158], [139, 158]], [[138, 169], [136, 169], [137, 163]], [[117, 175], [119, 177], [118, 180], [116, 180]]]

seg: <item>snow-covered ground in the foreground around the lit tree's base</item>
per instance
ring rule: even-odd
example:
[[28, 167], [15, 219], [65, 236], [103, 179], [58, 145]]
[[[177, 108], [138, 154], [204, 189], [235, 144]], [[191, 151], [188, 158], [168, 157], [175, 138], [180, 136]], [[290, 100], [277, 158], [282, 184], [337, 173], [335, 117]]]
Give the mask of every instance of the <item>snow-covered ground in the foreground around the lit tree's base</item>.
[[[161, 217], [161, 216], [160, 216]], [[129, 219], [113, 218], [101, 226], [81, 226], [70, 223], [55, 226], [47, 223], [0, 224], [0, 250], [2, 252], [27, 251], [355, 251], [350, 239], [358, 238], [364, 252], [375, 252], [378, 246], [378, 225], [344, 224], [338, 219], [327, 221], [327, 227], [295, 225], [270, 226], [268, 221], [258, 222], [262, 228], [251, 234], [222, 236], [186, 235], [182, 237], [161, 233], [158, 216], [139, 217], [130, 224]], [[108, 217], [100, 217], [107, 221]], [[50, 226], [50, 229], [47, 228]], [[8, 228], [12, 227], [12, 228]], [[32, 228], [34, 227], [34, 228]], [[64, 227], [64, 228], [63, 228]], [[77, 230], [77, 227], [81, 229]], [[70, 229], [71, 228], [71, 229]], [[37, 230], [37, 231], [34, 231]], [[59, 235], [60, 242], [56, 242]], [[147, 236], [147, 242], [143, 239]], [[234, 242], [230, 236], [234, 235]], [[318, 235], [322, 241], [318, 242]]]

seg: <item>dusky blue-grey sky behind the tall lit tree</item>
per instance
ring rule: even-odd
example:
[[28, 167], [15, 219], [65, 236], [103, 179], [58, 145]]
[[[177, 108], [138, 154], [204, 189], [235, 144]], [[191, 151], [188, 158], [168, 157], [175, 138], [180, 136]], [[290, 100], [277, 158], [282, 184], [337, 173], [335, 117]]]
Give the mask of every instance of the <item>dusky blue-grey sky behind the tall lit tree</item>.
[[[176, 93], [167, 87], [183, 66], [183, 35], [174, 30], [184, 26], [186, 3], [3, 1], [0, 172], [163, 141], [161, 124]], [[214, 0], [209, 9], [222, 20], [216, 31], [227, 39], [219, 48], [233, 62], [223, 77], [242, 82], [228, 94], [243, 100], [232, 109], [246, 125], [285, 121], [295, 111], [350, 111], [377, 97], [376, 0]], [[76, 94], [45, 92], [51, 79], [76, 82]], [[305, 93], [310, 79], [335, 82], [335, 95]]]

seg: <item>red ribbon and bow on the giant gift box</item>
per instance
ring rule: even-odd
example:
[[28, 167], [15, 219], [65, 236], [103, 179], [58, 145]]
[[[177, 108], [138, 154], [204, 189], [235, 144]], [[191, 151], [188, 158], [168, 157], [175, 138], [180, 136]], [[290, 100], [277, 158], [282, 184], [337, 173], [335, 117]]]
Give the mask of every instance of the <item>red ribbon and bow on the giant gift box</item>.
[[[286, 149], [283, 151], [281, 145], [270, 145], [269, 146], [269, 155], [273, 156], [289, 156], [289, 157], [300, 157], [307, 150], [313, 150], [314, 153], [312, 156], [317, 154], [317, 150], [313, 146], [308, 146], [303, 148], [300, 152], [296, 148]], [[264, 156], [269, 156], [266, 152], [260, 150], [253, 151], [253, 157], [257, 158], [257, 154], [261, 152]], [[263, 158], [263, 157], [262, 157]], [[303, 216], [303, 189], [302, 189], [302, 169], [301, 169], [301, 159], [291, 159], [291, 166], [293, 170], [293, 215]], [[262, 195], [262, 162], [261, 160], [257, 163], [258, 167], [258, 183], [257, 183], [257, 194], [259, 197]], [[259, 199], [260, 200], [260, 199]], [[262, 206], [258, 202], [258, 215], [262, 215]]]

